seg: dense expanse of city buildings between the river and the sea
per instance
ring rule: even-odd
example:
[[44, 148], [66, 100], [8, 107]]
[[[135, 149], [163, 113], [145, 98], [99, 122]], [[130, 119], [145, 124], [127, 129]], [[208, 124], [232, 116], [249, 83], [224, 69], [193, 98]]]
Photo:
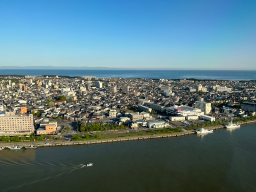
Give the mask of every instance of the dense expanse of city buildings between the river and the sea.
[[255, 95], [253, 81], [6, 76], [0, 80], [0, 135], [51, 135], [78, 122], [163, 128], [174, 121], [218, 121], [218, 114], [252, 116]]

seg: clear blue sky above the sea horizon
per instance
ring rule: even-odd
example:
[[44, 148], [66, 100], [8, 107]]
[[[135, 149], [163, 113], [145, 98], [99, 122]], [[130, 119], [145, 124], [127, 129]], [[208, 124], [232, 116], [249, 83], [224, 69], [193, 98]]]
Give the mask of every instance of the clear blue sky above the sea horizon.
[[1, 0], [7, 65], [256, 70], [256, 0]]

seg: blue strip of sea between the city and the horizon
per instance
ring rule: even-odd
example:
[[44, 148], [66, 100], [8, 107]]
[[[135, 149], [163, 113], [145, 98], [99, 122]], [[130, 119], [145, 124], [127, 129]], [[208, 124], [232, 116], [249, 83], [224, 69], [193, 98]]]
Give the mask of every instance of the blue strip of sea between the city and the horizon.
[[43, 70], [43, 69], [0, 69], [0, 75], [64, 75], [96, 76], [97, 78], [146, 78], [146, 79], [217, 79], [255, 80], [256, 71], [238, 70]]

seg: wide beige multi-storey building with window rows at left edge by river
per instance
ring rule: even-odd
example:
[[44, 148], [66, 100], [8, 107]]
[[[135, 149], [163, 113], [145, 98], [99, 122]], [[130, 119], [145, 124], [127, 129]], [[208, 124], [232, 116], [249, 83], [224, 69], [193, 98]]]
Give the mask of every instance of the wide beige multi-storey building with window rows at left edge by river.
[[14, 111], [7, 111], [0, 115], [0, 135], [26, 135], [35, 130], [33, 115], [15, 115]]

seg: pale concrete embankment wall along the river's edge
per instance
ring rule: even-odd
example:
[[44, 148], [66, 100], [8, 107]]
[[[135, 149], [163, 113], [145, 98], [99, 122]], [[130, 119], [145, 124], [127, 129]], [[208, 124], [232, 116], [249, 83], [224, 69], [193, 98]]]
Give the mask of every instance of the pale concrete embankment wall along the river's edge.
[[[242, 124], [256, 123], [256, 120], [241, 122]], [[213, 125], [209, 129], [222, 129], [225, 128], [224, 125]], [[179, 133], [167, 133], [167, 134], [157, 134], [157, 135], [143, 135], [143, 136], [133, 136], [133, 137], [122, 137], [116, 139], [104, 139], [104, 140], [72, 140], [72, 141], [47, 141], [49, 144], [45, 144], [45, 141], [36, 141], [36, 142], [15, 142], [15, 143], [0, 143], [0, 147], [12, 147], [16, 146], [25, 146], [25, 145], [37, 145], [38, 147], [50, 147], [50, 146], [69, 146], [69, 145], [89, 145], [89, 144], [100, 144], [100, 143], [112, 143], [112, 142], [121, 142], [121, 141], [134, 141], [134, 140], [144, 140], [144, 139], [159, 139], [159, 138], [170, 138], [170, 137], [180, 137], [196, 134], [193, 130], [187, 132]]]

